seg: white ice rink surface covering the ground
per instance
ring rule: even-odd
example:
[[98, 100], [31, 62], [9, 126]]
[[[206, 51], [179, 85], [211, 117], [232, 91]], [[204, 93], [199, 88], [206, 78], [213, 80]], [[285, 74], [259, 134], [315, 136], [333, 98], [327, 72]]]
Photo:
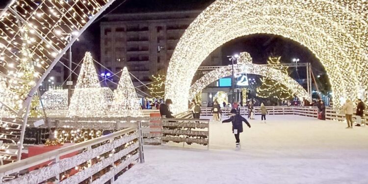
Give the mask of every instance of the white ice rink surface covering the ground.
[[[294, 115], [250, 120], [234, 151], [231, 123], [210, 123], [210, 150], [145, 146], [118, 184], [368, 184], [368, 126]], [[180, 145], [182, 146], [182, 144]]]

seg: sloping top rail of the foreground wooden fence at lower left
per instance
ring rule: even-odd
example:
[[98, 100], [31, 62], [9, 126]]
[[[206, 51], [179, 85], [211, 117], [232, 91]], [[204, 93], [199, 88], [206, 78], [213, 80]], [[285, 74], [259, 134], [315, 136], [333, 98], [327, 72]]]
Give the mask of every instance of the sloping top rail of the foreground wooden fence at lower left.
[[47, 153], [44, 153], [44, 154], [41, 154], [41, 155], [37, 155], [37, 156], [34, 156], [34, 157], [26, 158], [26, 159], [23, 159], [23, 160], [19, 160], [19, 161], [13, 162], [13, 163], [3, 165], [3, 166], [0, 166], [0, 175], [2, 174], [3, 176], [6, 176], [8, 174], [12, 174], [12, 173], [21, 171], [21, 170], [24, 170], [24, 169], [28, 168], [29, 165], [32, 165], [32, 166], [37, 165], [37, 164], [43, 163], [45, 161], [52, 160], [56, 157], [62, 156], [61, 154], [66, 155], [66, 154], [72, 153], [74, 151], [80, 150], [82, 148], [85, 148], [89, 145], [95, 145], [95, 144], [98, 144], [100, 142], [110, 140], [111, 138], [114, 138], [114, 137], [119, 136], [121, 134], [125, 134], [125, 133], [135, 131], [135, 130], [136, 129], [134, 129], [134, 128], [128, 128], [128, 129], [124, 129], [124, 130], [121, 130], [121, 131], [116, 131], [116, 132], [110, 133], [108, 135], [104, 135], [104, 136], [97, 137], [97, 138], [94, 138], [94, 139], [90, 139], [90, 140], [87, 140], [87, 141], [84, 141], [84, 142], [81, 142], [81, 143], [70, 145], [70, 146], [67, 146], [65, 148], [59, 148], [59, 149], [56, 149], [56, 150], [53, 150], [53, 151], [50, 151], [50, 152], [47, 152]]

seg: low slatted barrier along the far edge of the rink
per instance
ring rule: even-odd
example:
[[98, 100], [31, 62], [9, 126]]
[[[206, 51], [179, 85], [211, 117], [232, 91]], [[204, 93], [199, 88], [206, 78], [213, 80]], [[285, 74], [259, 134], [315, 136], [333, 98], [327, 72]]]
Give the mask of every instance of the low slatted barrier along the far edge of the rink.
[[[316, 106], [266, 106], [268, 114], [270, 115], [300, 115], [307, 117], [318, 117]], [[211, 107], [202, 107], [201, 116], [212, 116]], [[221, 108], [222, 118], [229, 117], [230, 107]], [[255, 115], [261, 115], [260, 106], [254, 107]], [[356, 109], [354, 109], [354, 112]], [[240, 114], [247, 116], [248, 108], [240, 107]], [[353, 119], [356, 120], [356, 115], [353, 115]], [[345, 114], [343, 114], [342, 109], [336, 109], [332, 107], [326, 107], [326, 119], [333, 121], [345, 121]], [[368, 122], [368, 112], [365, 112], [365, 116], [362, 118], [363, 121]]]

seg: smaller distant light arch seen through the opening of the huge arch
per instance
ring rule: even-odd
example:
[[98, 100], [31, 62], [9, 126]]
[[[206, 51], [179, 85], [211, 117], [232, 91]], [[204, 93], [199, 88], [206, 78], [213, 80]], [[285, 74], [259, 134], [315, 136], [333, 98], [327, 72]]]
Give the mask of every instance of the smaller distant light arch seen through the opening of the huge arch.
[[[280, 72], [280, 70], [270, 68], [267, 65], [236, 65], [234, 70], [235, 74], [254, 74], [279, 81], [281, 84], [290, 89], [292, 94], [295, 94], [295, 96], [299, 99], [310, 99], [308, 92], [298, 82], [290, 78], [287, 74]], [[231, 75], [232, 65], [221, 67], [204, 75], [190, 87], [188, 98], [189, 101], [191, 101], [195, 97], [195, 95], [202, 91], [206, 86], [210, 85], [210, 83]]]

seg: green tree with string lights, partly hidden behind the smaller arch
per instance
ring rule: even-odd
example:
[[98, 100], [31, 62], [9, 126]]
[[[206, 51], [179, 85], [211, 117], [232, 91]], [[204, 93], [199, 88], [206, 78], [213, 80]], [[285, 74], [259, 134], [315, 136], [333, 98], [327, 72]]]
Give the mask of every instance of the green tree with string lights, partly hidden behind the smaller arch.
[[[280, 65], [281, 57], [269, 57], [267, 64], [270, 68], [280, 70], [288, 75], [288, 66]], [[288, 100], [292, 98], [292, 92], [285, 85], [269, 78], [261, 79], [262, 85], [257, 88], [257, 96], [260, 98], [275, 98], [279, 100]]]

